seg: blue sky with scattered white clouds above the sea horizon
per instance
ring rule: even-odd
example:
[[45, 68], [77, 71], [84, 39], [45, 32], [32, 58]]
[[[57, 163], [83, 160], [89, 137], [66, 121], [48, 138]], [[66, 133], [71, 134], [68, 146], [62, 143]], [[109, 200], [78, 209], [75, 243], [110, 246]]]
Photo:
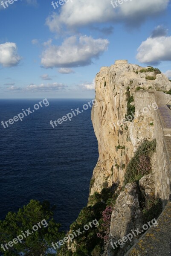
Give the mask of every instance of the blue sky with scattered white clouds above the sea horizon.
[[169, 0], [0, 2], [0, 99], [93, 99], [117, 59], [171, 78]]

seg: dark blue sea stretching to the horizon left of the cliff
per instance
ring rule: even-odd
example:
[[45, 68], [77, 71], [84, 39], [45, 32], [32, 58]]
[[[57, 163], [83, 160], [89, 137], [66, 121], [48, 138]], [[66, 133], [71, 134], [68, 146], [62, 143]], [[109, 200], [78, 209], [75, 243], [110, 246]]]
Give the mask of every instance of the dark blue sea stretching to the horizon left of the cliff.
[[[49, 106], [4, 128], [5, 122], [42, 99], [0, 99], [0, 219], [30, 199], [56, 205], [55, 220], [68, 230], [86, 206], [90, 179], [98, 160], [91, 108], [52, 128], [88, 99], [47, 99]], [[25, 111], [27, 113], [27, 111]], [[75, 113], [77, 113], [75, 111]]]

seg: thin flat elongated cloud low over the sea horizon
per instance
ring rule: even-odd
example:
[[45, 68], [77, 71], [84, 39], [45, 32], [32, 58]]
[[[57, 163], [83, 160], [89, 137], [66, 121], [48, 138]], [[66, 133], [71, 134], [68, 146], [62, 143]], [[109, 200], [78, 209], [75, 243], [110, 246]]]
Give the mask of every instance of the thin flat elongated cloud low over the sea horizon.
[[57, 90], [65, 90], [67, 85], [64, 84], [58, 84], [58, 83], [53, 83], [53, 84], [30, 84], [26, 87], [27, 91], [30, 92], [49, 92], [49, 91], [57, 91]]

